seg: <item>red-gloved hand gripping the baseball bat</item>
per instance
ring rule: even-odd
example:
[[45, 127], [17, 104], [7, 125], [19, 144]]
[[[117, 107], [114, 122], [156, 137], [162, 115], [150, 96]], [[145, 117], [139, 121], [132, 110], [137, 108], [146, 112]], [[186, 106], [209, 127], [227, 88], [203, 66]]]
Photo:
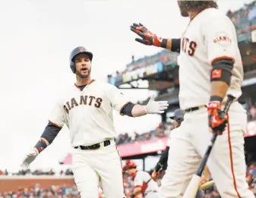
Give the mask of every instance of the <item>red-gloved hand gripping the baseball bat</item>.
[[207, 105], [208, 125], [210, 130], [218, 135], [223, 133], [227, 123], [226, 116], [220, 107], [219, 101], [211, 101]]

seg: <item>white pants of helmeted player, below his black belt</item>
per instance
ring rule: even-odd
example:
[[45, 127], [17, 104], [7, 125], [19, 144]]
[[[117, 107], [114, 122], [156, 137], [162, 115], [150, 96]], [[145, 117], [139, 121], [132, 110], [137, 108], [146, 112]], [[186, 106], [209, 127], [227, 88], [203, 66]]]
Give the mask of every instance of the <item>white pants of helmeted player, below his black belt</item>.
[[81, 198], [99, 198], [99, 181], [106, 198], [125, 198], [122, 162], [114, 140], [95, 150], [74, 149], [73, 173]]

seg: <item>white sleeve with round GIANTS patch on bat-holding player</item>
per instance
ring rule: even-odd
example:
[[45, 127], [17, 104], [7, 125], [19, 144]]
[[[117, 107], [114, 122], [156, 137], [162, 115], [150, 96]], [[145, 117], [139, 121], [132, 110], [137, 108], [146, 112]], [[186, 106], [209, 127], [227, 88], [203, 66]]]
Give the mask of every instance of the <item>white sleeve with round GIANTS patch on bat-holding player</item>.
[[210, 64], [223, 58], [235, 61], [237, 39], [232, 21], [225, 15], [218, 15], [206, 20], [206, 23], [203, 25], [204, 43]]

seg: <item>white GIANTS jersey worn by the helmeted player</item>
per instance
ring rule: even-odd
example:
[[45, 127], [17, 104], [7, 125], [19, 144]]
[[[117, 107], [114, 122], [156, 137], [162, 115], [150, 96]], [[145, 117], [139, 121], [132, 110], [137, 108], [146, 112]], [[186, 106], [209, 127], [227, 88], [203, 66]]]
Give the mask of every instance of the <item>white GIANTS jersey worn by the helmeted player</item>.
[[129, 103], [117, 87], [92, 80], [84, 90], [75, 84], [58, 100], [49, 121], [70, 130], [71, 146], [90, 146], [116, 136], [112, 108], [122, 112]]

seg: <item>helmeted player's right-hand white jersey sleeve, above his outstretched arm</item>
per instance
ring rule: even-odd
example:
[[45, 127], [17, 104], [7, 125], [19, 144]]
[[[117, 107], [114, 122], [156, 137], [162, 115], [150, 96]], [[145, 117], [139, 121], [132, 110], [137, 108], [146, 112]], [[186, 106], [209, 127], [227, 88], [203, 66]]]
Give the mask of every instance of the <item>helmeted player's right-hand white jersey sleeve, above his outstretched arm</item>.
[[111, 102], [112, 107], [122, 114], [122, 110], [125, 108], [126, 105], [131, 104], [131, 101], [128, 100], [123, 93], [116, 86], [112, 86], [109, 89], [109, 100]]

